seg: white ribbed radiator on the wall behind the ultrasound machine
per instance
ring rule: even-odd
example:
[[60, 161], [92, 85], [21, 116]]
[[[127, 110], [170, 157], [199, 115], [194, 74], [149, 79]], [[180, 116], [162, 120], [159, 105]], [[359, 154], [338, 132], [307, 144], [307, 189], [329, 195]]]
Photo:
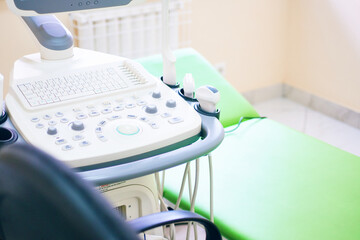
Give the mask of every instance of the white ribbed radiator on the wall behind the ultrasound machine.
[[[191, 0], [170, 0], [170, 47], [189, 47]], [[120, 55], [145, 57], [161, 52], [161, 2], [72, 13], [75, 46]]]

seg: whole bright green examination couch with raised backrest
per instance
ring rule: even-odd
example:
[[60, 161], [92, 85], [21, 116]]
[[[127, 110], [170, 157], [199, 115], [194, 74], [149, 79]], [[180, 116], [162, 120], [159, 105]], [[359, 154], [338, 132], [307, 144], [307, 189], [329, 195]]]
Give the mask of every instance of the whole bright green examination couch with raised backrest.
[[[193, 49], [176, 52], [177, 78], [221, 92], [226, 130], [254, 108]], [[161, 76], [160, 56], [139, 60]], [[261, 113], [260, 113], [261, 114]], [[359, 145], [360, 146], [360, 145]], [[243, 122], [212, 153], [215, 223], [227, 239], [360, 239], [360, 158], [271, 119]], [[208, 162], [200, 161], [195, 211], [209, 217]], [[184, 166], [166, 171], [164, 196], [175, 203]], [[185, 195], [182, 208], [189, 207]]]

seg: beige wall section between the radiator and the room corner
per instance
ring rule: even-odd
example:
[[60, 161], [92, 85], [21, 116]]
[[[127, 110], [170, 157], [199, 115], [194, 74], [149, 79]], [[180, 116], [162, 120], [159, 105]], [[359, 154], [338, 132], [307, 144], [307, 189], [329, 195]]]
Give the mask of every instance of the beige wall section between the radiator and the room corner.
[[238, 91], [282, 82], [287, 0], [192, 0], [192, 45]]

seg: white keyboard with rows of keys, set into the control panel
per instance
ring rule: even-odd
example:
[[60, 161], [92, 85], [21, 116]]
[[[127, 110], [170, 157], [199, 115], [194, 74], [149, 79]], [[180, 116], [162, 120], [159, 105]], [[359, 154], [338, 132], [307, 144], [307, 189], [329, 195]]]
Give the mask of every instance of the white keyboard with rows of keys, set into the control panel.
[[[36, 107], [125, 89], [131, 85], [145, 84], [146, 78], [139, 77], [134, 69], [135, 66], [131, 62], [125, 61], [115, 68], [106, 67], [62, 77], [37, 80], [18, 84], [17, 87], [30, 106]], [[121, 71], [123, 76], [120, 76], [118, 71]]]

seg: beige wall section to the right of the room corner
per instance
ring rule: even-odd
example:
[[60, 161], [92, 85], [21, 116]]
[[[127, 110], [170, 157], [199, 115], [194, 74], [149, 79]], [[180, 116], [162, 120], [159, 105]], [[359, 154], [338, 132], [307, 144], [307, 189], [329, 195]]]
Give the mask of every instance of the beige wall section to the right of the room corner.
[[360, 1], [290, 0], [285, 82], [360, 112]]

